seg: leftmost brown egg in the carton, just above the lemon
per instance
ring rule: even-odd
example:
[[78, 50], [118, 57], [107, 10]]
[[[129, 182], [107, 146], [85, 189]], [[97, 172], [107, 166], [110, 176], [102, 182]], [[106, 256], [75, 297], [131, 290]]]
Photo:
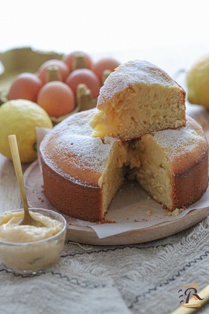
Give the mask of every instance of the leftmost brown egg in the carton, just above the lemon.
[[27, 99], [36, 102], [43, 83], [33, 73], [21, 73], [16, 76], [9, 90], [8, 99]]

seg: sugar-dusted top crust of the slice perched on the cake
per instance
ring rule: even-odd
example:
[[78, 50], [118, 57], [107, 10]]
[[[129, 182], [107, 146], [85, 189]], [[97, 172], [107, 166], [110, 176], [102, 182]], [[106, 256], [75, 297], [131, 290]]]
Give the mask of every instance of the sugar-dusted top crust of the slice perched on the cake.
[[161, 68], [148, 61], [128, 61], [110, 73], [100, 89], [97, 106], [110, 100], [114, 95], [135, 84], [179, 85]]

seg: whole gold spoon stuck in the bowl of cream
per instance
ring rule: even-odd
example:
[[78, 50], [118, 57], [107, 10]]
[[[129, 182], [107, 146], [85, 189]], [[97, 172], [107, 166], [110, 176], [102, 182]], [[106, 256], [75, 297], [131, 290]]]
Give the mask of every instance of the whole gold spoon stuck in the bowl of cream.
[[18, 144], [16, 135], [8, 135], [8, 141], [10, 150], [12, 153], [12, 159], [14, 164], [15, 173], [18, 179], [19, 189], [20, 189], [20, 195], [24, 207], [24, 218], [20, 225], [30, 225], [35, 227], [44, 227], [44, 225], [37, 220], [33, 219], [29, 213], [28, 209], [28, 201], [26, 198], [26, 192], [25, 192], [25, 185], [23, 180], [23, 172], [21, 168], [21, 162], [20, 162], [20, 156], [18, 151]]

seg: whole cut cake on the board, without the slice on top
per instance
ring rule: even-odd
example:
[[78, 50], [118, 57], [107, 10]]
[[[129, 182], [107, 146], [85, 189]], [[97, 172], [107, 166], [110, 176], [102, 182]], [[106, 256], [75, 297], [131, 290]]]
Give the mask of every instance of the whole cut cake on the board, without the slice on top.
[[185, 127], [129, 141], [101, 139], [88, 125], [96, 111], [69, 116], [40, 144], [44, 192], [55, 208], [101, 221], [129, 173], [168, 211], [201, 198], [208, 186], [208, 142], [197, 122], [187, 117]]

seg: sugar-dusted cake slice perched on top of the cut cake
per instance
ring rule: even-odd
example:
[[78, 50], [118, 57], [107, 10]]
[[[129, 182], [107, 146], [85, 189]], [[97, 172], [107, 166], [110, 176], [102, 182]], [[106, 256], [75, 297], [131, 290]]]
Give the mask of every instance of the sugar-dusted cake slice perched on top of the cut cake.
[[121, 140], [185, 126], [185, 91], [147, 61], [129, 61], [110, 73], [100, 89], [93, 137]]

